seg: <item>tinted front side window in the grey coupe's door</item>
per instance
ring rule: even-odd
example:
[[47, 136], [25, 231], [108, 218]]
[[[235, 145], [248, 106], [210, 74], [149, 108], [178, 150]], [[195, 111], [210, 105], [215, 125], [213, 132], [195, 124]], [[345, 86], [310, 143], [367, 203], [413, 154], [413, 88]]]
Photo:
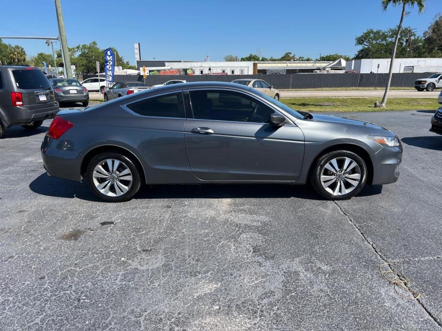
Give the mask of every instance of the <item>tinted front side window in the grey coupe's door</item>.
[[268, 123], [274, 110], [243, 93], [222, 90], [191, 91], [195, 119]]

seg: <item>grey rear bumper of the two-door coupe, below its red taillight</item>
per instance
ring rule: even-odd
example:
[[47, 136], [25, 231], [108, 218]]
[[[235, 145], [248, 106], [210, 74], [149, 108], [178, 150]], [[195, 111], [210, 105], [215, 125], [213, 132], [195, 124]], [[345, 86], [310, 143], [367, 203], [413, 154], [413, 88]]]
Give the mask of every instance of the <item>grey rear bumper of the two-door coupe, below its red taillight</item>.
[[82, 155], [74, 150], [68, 140], [43, 139], [41, 152], [43, 166], [50, 176], [80, 181]]

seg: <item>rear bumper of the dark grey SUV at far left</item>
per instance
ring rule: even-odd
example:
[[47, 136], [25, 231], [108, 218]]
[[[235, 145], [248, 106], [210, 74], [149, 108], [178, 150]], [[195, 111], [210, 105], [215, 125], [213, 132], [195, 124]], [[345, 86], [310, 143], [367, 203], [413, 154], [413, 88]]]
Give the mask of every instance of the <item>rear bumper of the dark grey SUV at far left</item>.
[[55, 102], [53, 106], [35, 110], [30, 110], [26, 106], [11, 106], [10, 108], [5, 110], [6, 111], [4, 113], [6, 123], [4, 124], [6, 125], [6, 127], [10, 127], [12, 125], [28, 124], [36, 120], [47, 120], [50, 118], [54, 118], [60, 108], [58, 106], [58, 103]]

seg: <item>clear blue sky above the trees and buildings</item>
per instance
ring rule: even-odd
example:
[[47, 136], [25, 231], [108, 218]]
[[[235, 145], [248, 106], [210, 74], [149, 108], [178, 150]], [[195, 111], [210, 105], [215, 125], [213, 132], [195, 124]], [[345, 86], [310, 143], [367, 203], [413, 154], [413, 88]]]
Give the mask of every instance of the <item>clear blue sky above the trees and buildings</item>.
[[[61, 1], [69, 46], [95, 40], [101, 48], [115, 47], [132, 64], [135, 64], [134, 42], [141, 43], [143, 60], [153, 57], [204, 60], [209, 54], [210, 60], [220, 61], [227, 54], [247, 56], [258, 48], [267, 57], [279, 57], [285, 52], [312, 58], [320, 53], [353, 56], [358, 49], [354, 46], [357, 35], [368, 28], [386, 29], [399, 23], [400, 8], [384, 12], [380, 3], [380, 0]], [[0, 35], [57, 35], [53, 0], [15, 0], [14, 8], [0, 13]], [[427, 10], [422, 14], [412, 10], [404, 25], [417, 28], [418, 34], [422, 34], [441, 11], [440, 0], [427, 0]], [[28, 56], [50, 53], [44, 41], [4, 41], [22, 45]]]

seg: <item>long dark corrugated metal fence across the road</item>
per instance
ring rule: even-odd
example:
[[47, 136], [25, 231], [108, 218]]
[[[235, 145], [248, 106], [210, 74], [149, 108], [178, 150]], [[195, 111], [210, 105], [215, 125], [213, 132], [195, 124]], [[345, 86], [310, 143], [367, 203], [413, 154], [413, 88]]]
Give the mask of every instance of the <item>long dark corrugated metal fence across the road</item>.
[[[414, 87], [416, 79], [431, 73], [393, 74], [392, 87]], [[188, 82], [231, 82], [234, 79], [263, 79], [276, 89], [312, 89], [334, 87], [384, 87], [388, 74], [296, 74], [296, 75], [148, 75], [146, 84], [162, 84], [171, 79]], [[83, 79], [94, 77], [84, 75]], [[115, 82], [143, 81], [141, 75], [115, 75]]]

